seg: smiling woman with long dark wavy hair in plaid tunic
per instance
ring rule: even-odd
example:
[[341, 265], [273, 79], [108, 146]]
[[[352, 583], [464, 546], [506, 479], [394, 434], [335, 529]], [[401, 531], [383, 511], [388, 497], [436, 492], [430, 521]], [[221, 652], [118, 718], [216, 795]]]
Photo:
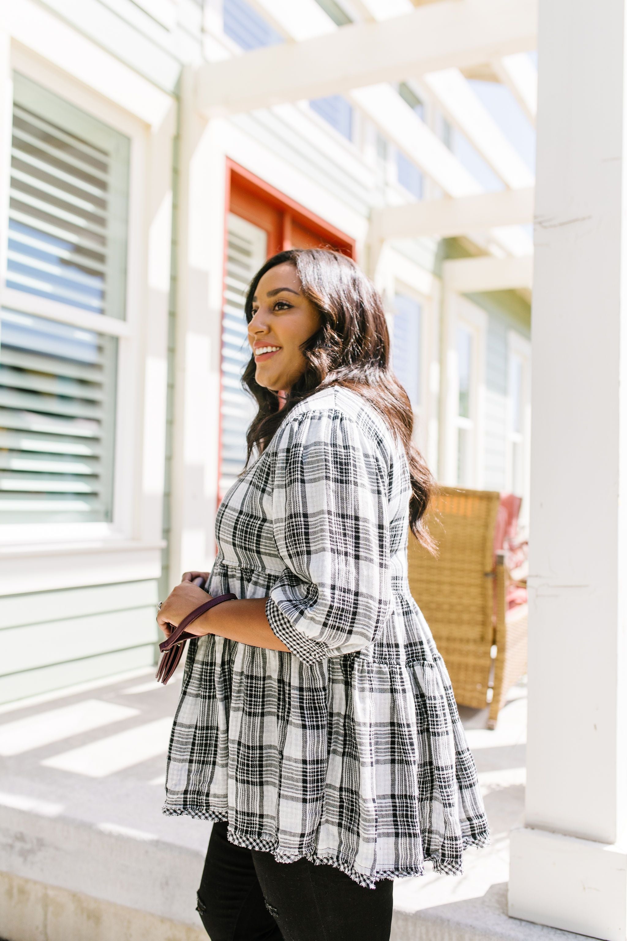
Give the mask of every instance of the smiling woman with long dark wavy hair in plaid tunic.
[[355, 263], [281, 252], [245, 312], [259, 456], [220, 504], [211, 574], [186, 572], [157, 619], [207, 600], [198, 575], [237, 599], [188, 629], [164, 812], [217, 821], [198, 890], [212, 941], [387, 941], [392, 879], [425, 859], [461, 872], [489, 839], [407, 581], [431, 476]]

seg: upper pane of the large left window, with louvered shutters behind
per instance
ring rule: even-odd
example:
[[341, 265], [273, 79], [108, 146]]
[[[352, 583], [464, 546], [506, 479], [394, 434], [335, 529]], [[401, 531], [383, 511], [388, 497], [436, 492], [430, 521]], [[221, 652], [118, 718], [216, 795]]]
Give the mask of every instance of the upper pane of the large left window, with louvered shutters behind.
[[123, 317], [129, 139], [14, 78], [7, 286]]

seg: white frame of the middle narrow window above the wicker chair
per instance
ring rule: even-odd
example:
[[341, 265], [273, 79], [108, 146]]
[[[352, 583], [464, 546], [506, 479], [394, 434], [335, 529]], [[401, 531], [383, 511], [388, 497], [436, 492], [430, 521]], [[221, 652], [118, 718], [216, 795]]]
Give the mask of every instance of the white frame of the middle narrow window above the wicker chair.
[[[463, 327], [472, 336], [470, 416], [459, 416], [460, 379], [457, 352], [457, 329]], [[443, 480], [448, 486], [481, 489], [485, 478], [485, 369], [488, 314], [467, 297], [451, 293], [447, 311], [447, 408]], [[470, 435], [470, 473], [468, 480], [458, 483], [458, 432], [463, 425]]]

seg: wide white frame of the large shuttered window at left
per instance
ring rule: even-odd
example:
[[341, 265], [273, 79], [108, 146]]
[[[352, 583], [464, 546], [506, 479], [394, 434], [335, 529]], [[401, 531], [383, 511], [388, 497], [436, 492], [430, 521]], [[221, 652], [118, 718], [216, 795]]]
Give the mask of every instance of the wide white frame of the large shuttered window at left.
[[[29, 6], [28, 0], [25, 3]], [[38, 8], [39, 10], [39, 8]], [[39, 14], [38, 14], [39, 15]], [[41, 10], [44, 20], [49, 14]], [[16, 18], [19, 38], [20, 18]], [[10, 28], [9, 20], [9, 28]], [[55, 33], [68, 31], [54, 18], [32, 31], [33, 45], [41, 52], [49, 45], [46, 61], [25, 49], [22, 42], [0, 32], [0, 121], [5, 134], [0, 152], [0, 300], [3, 306], [26, 311], [71, 326], [94, 330], [118, 339], [117, 407], [114, 455], [114, 497], [111, 522], [9, 523], [0, 525], [0, 553], [6, 576], [0, 594], [32, 591], [33, 572], [26, 573], [24, 559], [47, 556], [53, 549], [63, 556], [61, 566], [49, 565], [50, 580], [36, 580], [45, 587], [81, 583], [132, 581], [160, 573], [162, 504], [165, 462], [165, 405], [167, 375], [167, 311], [171, 245], [172, 136], [175, 133], [174, 100], [142, 80], [129, 83], [128, 107], [94, 90], [102, 86], [102, 50], [91, 40], [71, 30], [71, 42], [85, 46], [80, 68], [93, 63], [93, 87], [55, 64], [58, 49]], [[119, 72], [112, 59], [112, 75]], [[106, 65], [106, 63], [104, 63]], [[71, 66], [70, 66], [71, 67]], [[128, 70], [130, 72], [130, 70]], [[44, 88], [109, 124], [131, 139], [126, 271], [126, 319], [79, 311], [47, 298], [6, 288], [8, 240], [8, 180], [10, 175], [10, 128], [12, 122], [12, 74], [20, 72]], [[82, 74], [82, 78], [89, 76]], [[112, 81], [117, 95], [115, 81]], [[169, 103], [169, 105], [168, 105]], [[132, 112], [135, 112], [134, 114]], [[152, 112], [155, 125], [143, 120]], [[150, 323], [150, 330], [148, 330]], [[128, 407], [133, 403], [133, 407]], [[112, 550], [128, 553], [135, 565], [122, 567]], [[104, 552], [104, 556], [102, 556]], [[148, 553], [148, 554], [147, 554]], [[80, 557], [80, 558], [79, 558]], [[93, 559], [93, 565], [86, 564]], [[148, 564], [148, 559], [150, 562]], [[103, 565], [103, 560], [106, 564]], [[111, 563], [109, 565], [109, 562]], [[72, 571], [72, 566], [75, 566]], [[92, 569], [100, 566], [102, 571]], [[102, 567], [103, 566], [103, 567]], [[116, 569], [115, 576], [106, 571]], [[11, 569], [14, 569], [11, 572]], [[16, 573], [28, 574], [18, 578]], [[150, 574], [149, 574], [150, 573]], [[21, 587], [24, 581], [24, 587]]]

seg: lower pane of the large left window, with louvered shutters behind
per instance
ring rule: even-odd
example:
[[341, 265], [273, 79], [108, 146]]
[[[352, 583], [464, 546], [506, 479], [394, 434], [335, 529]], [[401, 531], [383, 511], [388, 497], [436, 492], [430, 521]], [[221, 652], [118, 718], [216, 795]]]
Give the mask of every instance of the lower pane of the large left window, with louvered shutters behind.
[[111, 519], [116, 340], [0, 314], [0, 522]]

